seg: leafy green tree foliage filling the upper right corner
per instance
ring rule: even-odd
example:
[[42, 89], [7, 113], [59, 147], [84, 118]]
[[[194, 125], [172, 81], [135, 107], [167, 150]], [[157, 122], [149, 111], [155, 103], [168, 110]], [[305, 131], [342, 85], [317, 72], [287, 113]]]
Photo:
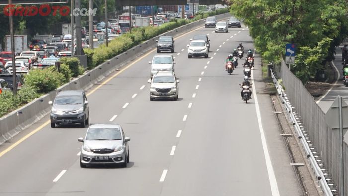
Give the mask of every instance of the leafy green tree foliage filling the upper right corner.
[[348, 35], [345, 0], [230, 0], [231, 12], [249, 26], [258, 52], [279, 63], [285, 44], [297, 44], [296, 69], [302, 80], [334, 58]]

